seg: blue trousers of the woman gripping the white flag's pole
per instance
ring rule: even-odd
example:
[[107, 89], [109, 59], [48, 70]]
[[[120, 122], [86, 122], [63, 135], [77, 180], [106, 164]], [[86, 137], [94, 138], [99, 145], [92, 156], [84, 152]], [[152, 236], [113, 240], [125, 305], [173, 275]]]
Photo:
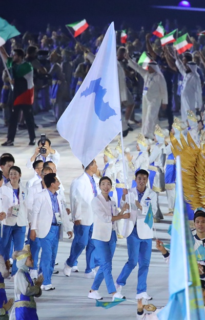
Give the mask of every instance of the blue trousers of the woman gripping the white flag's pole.
[[94, 239], [96, 255], [99, 258], [100, 267], [91, 287], [92, 290], [98, 290], [100, 284], [105, 278], [108, 293], [113, 293], [116, 291], [112, 277], [112, 258], [115, 252], [116, 242], [117, 238], [115, 231], [112, 231], [110, 241], [108, 242]]

